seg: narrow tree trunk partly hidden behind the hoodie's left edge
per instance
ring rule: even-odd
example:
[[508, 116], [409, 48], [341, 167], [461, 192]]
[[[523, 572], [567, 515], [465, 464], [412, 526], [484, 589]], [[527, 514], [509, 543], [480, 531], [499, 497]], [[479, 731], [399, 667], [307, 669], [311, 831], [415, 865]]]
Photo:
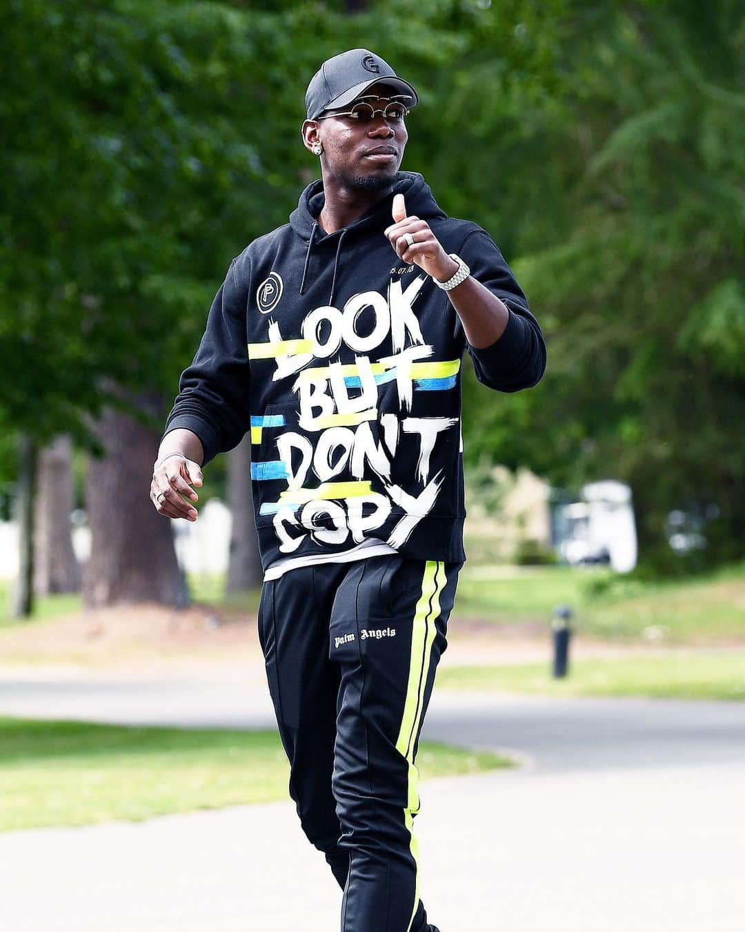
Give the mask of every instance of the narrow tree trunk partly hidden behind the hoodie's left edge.
[[251, 499], [251, 433], [228, 453], [228, 507], [233, 515], [227, 591], [243, 592], [262, 583], [264, 571]]

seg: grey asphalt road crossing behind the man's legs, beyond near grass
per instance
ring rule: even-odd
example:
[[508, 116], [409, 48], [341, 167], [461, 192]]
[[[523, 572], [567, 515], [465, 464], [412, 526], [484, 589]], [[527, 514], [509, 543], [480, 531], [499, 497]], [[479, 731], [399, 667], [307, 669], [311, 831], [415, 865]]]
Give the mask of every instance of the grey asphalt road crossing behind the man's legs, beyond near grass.
[[[183, 727], [275, 727], [264, 683], [235, 672], [150, 678], [0, 672], [0, 714]], [[555, 699], [446, 692], [436, 686], [423, 735], [468, 747], [508, 748], [541, 773], [745, 765], [745, 703]]]

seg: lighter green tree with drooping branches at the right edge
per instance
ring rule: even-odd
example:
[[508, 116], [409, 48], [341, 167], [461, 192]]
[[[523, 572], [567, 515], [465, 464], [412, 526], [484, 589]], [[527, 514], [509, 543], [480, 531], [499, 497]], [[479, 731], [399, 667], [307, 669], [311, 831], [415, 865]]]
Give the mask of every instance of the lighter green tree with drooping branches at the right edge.
[[667, 512], [684, 508], [710, 519], [710, 559], [736, 557], [745, 122], [733, 117], [745, 111], [745, 18], [729, 3], [625, 7], [587, 36], [592, 83], [562, 146], [585, 156], [572, 228], [522, 261], [553, 319], [552, 373], [530, 416], [560, 461], [536, 461], [559, 477], [628, 480], [648, 550], [664, 546]]

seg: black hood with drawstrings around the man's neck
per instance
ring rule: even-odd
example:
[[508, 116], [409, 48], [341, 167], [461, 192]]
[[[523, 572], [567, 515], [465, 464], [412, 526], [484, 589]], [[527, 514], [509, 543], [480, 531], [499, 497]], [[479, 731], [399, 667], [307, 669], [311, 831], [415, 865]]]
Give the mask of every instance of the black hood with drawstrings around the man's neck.
[[303, 294], [305, 281], [309, 274], [311, 265], [311, 252], [318, 249], [328, 249], [330, 246], [335, 247], [333, 258], [333, 275], [332, 287], [329, 294], [330, 305], [333, 304], [333, 293], [336, 286], [336, 273], [343, 261], [342, 243], [345, 237], [354, 238], [360, 234], [367, 236], [375, 229], [384, 230], [390, 226], [392, 221], [393, 197], [396, 194], [402, 194], [406, 199], [406, 211], [414, 214], [422, 220], [429, 220], [432, 217], [446, 217], [447, 214], [440, 208], [432, 194], [432, 189], [427, 185], [424, 176], [418, 171], [397, 171], [393, 181], [391, 191], [386, 194], [385, 198], [376, 201], [367, 212], [363, 213], [357, 220], [354, 220], [349, 226], [343, 226], [333, 233], [325, 233], [318, 223], [318, 216], [323, 210], [326, 197], [323, 189], [323, 180], [317, 178], [312, 181], [300, 195], [298, 205], [290, 214], [290, 226], [301, 240], [307, 243], [305, 250], [305, 264], [303, 267], [303, 278], [300, 282], [299, 294]]

